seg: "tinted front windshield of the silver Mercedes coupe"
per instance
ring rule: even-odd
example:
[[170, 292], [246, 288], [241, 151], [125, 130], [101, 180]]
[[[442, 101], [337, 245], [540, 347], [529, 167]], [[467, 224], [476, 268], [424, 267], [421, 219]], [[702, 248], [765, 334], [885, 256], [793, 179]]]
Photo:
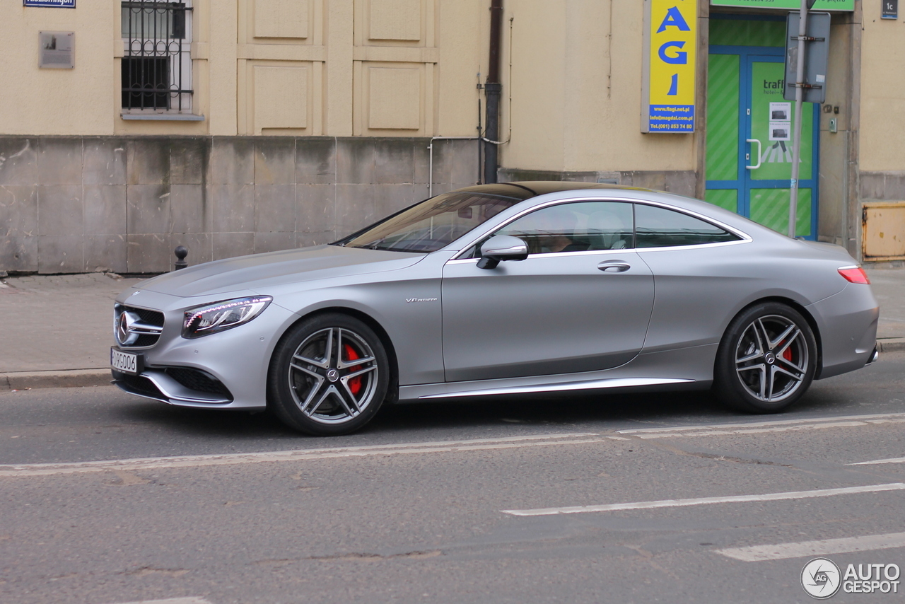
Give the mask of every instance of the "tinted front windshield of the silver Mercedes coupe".
[[336, 242], [391, 252], [435, 252], [521, 199], [486, 193], [444, 193]]

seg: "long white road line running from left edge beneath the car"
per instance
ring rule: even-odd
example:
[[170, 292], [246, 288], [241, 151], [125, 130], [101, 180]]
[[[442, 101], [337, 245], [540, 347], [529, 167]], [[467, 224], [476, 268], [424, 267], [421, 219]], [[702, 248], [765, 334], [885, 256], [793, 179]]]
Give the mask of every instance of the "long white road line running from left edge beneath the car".
[[263, 451], [261, 453], [235, 453], [225, 455], [177, 455], [170, 457], [140, 457], [96, 462], [63, 464], [0, 465], [3, 476], [47, 476], [86, 474], [107, 471], [157, 470], [174, 467], [203, 467], [208, 465], [260, 464], [264, 462], [293, 462], [312, 459], [341, 457], [367, 457], [376, 455], [411, 455], [457, 451], [486, 451], [529, 446], [584, 445], [606, 442], [605, 436], [593, 433], [572, 433], [535, 436], [510, 436], [507, 438], [477, 438], [428, 443], [404, 443], [399, 445], [345, 446], [321, 449], [295, 449], [291, 451]]

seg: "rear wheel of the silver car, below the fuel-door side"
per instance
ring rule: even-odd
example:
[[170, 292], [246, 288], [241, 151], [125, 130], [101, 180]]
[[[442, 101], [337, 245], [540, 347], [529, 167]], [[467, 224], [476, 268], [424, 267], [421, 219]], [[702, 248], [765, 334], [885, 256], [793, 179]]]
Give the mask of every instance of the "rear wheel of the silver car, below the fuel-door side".
[[762, 302], [729, 324], [717, 350], [713, 390], [729, 407], [777, 413], [805, 394], [816, 366], [814, 332], [801, 313]]

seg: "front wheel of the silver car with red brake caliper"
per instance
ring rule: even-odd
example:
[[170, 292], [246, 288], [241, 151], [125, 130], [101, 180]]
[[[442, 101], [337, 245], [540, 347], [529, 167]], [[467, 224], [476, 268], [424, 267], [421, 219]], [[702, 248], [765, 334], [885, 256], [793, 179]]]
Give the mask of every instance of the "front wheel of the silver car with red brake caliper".
[[317, 315], [293, 326], [273, 351], [268, 405], [300, 432], [349, 434], [376, 415], [389, 373], [384, 345], [367, 324], [345, 314]]

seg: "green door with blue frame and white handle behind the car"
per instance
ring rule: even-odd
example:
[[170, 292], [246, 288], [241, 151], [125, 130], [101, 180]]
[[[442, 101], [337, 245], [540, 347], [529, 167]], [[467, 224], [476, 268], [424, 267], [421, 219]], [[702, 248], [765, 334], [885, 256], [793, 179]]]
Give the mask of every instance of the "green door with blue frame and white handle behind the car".
[[[736, 29], [739, 23], [745, 22], [729, 22]], [[777, 25], [781, 43], [785, 26]], [[755, 35], [748, 30], [747, 41], [775, 43], [776, 29], [770, 35], [761, 23]], [[783, 52], [782, 46], [711, 44], [705, 199], [785, 234], [794, 103], [783, 99]], [[805, 103], [795, 234], [807, 239], [816, 233], [818, 117], [814, 104]]]

